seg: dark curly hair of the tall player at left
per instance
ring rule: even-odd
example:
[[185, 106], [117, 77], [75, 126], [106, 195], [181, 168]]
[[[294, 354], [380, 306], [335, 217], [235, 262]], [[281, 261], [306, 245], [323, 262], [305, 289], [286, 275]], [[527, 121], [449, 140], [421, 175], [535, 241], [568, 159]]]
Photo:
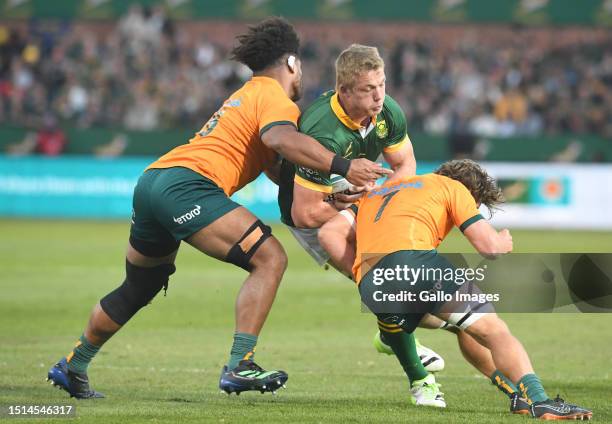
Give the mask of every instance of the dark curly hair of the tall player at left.
[[298, 54], [300, 39], [293, 26], [281, 17], [267, 18], [236, 37], [230, 58], [258, 72], [274, 65], [285, 54]]

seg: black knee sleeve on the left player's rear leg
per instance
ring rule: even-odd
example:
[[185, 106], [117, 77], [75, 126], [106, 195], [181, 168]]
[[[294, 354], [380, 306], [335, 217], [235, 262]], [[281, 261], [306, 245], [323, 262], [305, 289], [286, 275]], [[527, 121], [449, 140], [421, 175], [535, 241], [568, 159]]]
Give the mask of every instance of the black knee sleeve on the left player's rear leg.
[[140, 267], [126, 261], [126, 277], [115, 290], [100, 300], [100, 306], [117, 324], [124, 325], [143, 306], [168, 287], [170, 275], [176, 267], [163, 264], [151, 268]]

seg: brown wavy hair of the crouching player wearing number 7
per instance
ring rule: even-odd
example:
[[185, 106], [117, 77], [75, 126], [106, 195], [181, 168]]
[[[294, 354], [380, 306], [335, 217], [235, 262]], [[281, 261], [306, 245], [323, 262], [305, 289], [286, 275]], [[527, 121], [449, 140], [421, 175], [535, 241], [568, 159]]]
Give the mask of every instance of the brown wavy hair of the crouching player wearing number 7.
[[434, 171], [434, 174], [452, 178], [466, 186], [476, 203], [485, 205], [491, 215], [495, 209], [498, 209], [497, 205], [504, 202], [504, 195], [495, 180], [473, 160], [458, 159], [445, 162]]

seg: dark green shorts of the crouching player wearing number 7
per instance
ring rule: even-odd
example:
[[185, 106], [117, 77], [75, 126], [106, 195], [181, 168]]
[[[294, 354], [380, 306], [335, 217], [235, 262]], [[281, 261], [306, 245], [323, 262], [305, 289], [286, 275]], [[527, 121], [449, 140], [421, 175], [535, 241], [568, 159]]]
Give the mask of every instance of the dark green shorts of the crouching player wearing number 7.
[[[413, 278], [408, 269], [420, 270], [420, 277]], [[447, 303], [444, 297], [452, 297], [461, 287], [438, 279], [439, 273], [433, 271], [438, 269], [454, 270], [455, 266], [436, 250], [401, 250], [386, 255], [361, 279], [361, 301], [380, 321], [411, 333], [425, 314], [439, 311]]]

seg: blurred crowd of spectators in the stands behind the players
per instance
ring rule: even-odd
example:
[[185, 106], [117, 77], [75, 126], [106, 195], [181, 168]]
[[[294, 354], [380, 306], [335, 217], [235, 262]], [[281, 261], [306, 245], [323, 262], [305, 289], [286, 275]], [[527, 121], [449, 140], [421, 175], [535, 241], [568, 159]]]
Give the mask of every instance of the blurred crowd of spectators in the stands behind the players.
[[[379, 47], [411, 131], [612, 137], [612, 32], [580, 28], [298, 23], [305, 96], [333, 88], [352, 42]], [[116, 23], [0, 24], [0, 123], [53, 114], [80, 127], [202, 125], [250, 77], [231, 22], [133, 6]]]

